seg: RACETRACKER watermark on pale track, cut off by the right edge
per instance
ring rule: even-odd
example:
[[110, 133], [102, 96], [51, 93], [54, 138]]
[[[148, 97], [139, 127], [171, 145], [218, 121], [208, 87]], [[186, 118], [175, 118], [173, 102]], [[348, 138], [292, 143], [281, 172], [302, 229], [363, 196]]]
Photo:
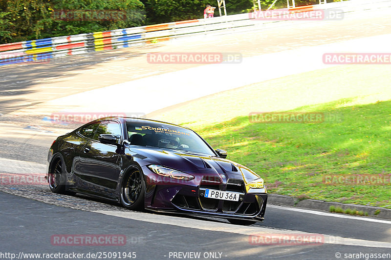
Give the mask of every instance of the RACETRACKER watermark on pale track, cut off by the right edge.
[[391, 53], [325, 53], [324, 64], [391, 64]]

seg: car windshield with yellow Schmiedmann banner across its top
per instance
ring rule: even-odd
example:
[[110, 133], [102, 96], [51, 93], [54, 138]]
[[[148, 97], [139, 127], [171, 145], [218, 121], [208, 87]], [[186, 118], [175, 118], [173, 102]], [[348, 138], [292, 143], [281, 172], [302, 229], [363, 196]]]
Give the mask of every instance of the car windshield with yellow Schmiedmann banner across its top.
[[181, 150], [207, 155], [215, 154], [192, 130], [155, 122], [127, 122], [130, 144]]

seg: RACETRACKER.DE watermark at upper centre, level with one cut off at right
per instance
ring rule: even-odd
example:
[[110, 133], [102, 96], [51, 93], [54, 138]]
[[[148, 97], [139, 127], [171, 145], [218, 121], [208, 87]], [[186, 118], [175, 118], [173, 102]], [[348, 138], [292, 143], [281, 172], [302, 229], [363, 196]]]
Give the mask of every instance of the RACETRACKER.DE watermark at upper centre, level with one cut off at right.
[[241, 53], [158, 52], [147, 54], [147, 62], [152, 64], [218, 64], [240, 63], [242, 60]]

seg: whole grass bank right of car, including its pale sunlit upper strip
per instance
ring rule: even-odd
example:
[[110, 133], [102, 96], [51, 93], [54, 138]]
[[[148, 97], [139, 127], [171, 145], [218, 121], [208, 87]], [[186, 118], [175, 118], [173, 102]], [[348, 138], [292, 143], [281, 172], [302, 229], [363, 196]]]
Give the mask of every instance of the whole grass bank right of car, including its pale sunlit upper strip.
[[[343, 71], [343, 73], [341, 73]], [[160, 111], [228, 159], [257, 172], [269, 193], [391, 208], [391, 185], [329, 185], [330, 175], [389, 175], [391, 86], [387, 65], [339, 66], [269, 80]], [[314, 80], [316, 79], [316, 80]], [[252, 123], [250, 112], [317, 112], [323, 123]]]

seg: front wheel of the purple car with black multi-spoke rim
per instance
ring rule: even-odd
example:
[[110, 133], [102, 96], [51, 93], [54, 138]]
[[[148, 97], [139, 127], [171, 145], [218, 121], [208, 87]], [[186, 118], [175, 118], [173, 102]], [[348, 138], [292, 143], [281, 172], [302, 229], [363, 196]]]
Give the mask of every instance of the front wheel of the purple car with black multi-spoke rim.
[[138, 169], [125, 175], [121, 184], [121, 204], [130, 210], [144, 209], [145, 182], [143, 174]]

